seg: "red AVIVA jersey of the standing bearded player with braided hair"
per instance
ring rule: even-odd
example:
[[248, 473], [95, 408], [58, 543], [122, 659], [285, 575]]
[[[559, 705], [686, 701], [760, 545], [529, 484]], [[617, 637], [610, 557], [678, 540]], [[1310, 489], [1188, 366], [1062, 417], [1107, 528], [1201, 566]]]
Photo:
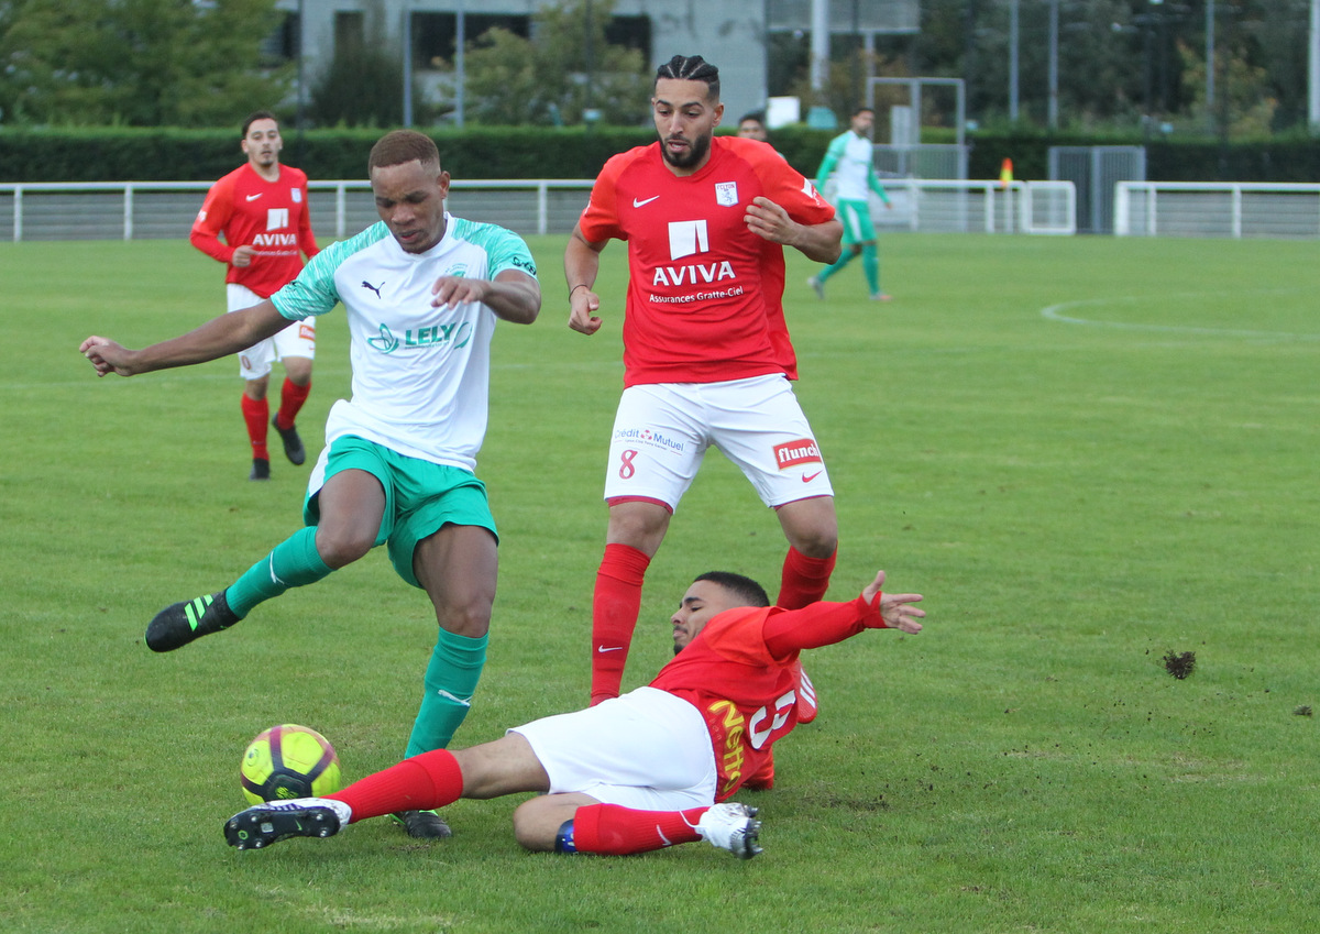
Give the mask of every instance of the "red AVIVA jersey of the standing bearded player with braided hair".
[[628, 241], [624, 385], [797, 379], [784, 248], [744, 222], [758, 195], [800, 224], [834, 216], [779, 153], [737, 136], [711, 139], [710, 160], [693, 175], [675, 175], [659, 142], [605, 164], [578, 226], [591, 243]]

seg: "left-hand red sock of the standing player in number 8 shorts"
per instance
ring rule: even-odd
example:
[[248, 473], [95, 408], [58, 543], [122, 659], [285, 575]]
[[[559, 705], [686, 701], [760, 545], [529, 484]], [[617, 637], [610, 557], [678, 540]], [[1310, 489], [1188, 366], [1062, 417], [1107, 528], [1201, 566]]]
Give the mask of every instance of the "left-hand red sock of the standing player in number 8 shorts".
[[591, 703], [619, 697], [623, 664], [642, 611], [642, 580], [651, 563], [631, 545], [606, 545], [591, 596]]

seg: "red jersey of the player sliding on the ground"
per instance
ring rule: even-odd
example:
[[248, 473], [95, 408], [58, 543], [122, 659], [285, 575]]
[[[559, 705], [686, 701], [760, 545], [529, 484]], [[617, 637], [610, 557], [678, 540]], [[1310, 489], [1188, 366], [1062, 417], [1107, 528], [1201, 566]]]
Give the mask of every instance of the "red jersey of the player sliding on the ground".
[[803, 649], [883, 629], [880, 598], [805, 609], [738, 607], [715, 616], [651, 682], [706, 719], [715, 752], [715, 801], [760, 772], [770, 748], [797, 726], [795, 665]]

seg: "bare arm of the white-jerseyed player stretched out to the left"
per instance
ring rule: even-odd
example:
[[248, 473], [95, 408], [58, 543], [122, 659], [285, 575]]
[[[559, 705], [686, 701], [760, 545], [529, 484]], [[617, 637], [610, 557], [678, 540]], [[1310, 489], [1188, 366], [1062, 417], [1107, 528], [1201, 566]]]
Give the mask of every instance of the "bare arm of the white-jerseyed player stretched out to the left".
[[279, 334], [288, 325], [289, 319], [265, 301], [242, 311], [222, 314], [182, 336], [143, 350], [128, 350], [110, 338], [92, 335], [82, 342], [78, 352], [96, 368], [98, 376], [136, 376], [238, 354]]

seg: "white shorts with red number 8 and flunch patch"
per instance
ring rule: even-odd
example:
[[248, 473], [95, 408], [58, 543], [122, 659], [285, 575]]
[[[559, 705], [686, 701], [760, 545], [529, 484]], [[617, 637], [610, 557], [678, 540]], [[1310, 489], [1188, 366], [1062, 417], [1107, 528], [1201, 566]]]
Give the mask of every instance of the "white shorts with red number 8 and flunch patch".
[[768, 507], [834, 495], [793, 387], [771, 375], [624, 389], [614, 416], [605, 499], [659, 500], [677, 509], [711, 445]]

